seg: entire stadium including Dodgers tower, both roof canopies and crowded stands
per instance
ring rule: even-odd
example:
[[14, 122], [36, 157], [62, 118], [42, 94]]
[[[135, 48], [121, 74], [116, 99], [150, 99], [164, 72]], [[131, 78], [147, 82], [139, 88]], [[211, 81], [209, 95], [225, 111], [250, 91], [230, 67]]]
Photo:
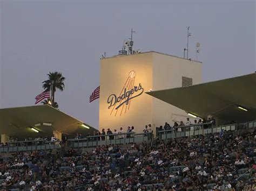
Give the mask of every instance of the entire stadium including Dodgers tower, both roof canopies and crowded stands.
[[99, 128], [50, 105], [0, 109], [0, 189], [255, 190], [256, 73], [202, 83], [202, 65], [101, 59]]

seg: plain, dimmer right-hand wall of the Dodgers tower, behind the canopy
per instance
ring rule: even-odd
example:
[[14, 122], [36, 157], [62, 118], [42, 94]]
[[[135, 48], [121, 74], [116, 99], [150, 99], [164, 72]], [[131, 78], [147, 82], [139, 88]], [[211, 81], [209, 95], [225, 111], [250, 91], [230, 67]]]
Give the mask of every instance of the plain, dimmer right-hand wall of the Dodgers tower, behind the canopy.
[[[161, 53], [153, 53], [153, 90], [181, 87], [182, 76], [191, 77], [193, 84], [201, 83], [201, 62], [190, 61]], [[192, 99], [191, 99], [192, 101]], [[174, 121], [186, 121], [185, 111], [167, 104], [157, 98], [153, 99], [153, 124], [173, 125]], [[190, 117], [193, 122], [194, 118]]]

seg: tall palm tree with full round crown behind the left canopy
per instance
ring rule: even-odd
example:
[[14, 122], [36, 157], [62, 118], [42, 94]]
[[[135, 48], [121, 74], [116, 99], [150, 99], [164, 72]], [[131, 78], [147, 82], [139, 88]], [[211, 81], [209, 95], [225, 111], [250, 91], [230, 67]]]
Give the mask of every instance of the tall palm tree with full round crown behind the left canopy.
[[[52, 93], [52, 107], [55, 107], [55, 91], [58, 89], [60, 91], [64, 90], [65, 77], [62, 76], [62, 73], [59, 72], [49, 72], [48, 80], [43, 81], [43, 88], [45, 90], [51, 91]], [[52, 86], [52, 89], [51, 89]]]

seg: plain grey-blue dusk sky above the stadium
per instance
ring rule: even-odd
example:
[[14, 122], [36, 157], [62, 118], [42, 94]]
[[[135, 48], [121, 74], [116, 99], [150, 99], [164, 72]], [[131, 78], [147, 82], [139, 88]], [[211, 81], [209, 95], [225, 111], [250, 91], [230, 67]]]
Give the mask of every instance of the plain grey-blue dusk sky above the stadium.
[[99, 59], [118, 54], [131, 29], [134, 49], [183, 57], [190, 26], [189, 57], [200, 43], [203, 82], [256, 70], [255, 1], [0, 2], [0, 108], [34, 105], [46, 74], [58, 71], [59, 109], [97, 128], [99, 102], [89, 96]]

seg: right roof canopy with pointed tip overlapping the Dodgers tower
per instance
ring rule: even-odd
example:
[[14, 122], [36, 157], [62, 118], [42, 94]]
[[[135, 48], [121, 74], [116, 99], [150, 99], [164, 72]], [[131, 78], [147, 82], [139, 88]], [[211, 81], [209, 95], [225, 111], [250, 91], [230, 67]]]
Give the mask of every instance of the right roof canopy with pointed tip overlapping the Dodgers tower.
[[237, 123], [256, 119], [256, 73], [147, 94], [201, 118], [212, 115]]

